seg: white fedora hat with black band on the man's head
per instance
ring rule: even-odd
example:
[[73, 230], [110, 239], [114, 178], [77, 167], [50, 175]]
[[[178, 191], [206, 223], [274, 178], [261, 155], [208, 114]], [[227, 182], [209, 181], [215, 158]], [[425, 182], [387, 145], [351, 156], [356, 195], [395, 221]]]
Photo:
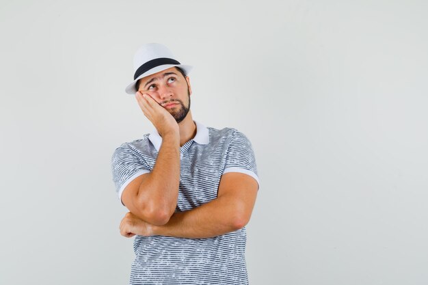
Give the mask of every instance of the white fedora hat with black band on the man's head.
[[193, 68], [193, 66], [180, 64], [172, 52], [163, 44], [144, 44], [134, 55], [134, 81], [126, 86], [125, 92], [135, 94], [137, 92], [135, 83], [137, 83], [138, 79], [172, 68], [173, 66], [183, 69], [186, 75]]

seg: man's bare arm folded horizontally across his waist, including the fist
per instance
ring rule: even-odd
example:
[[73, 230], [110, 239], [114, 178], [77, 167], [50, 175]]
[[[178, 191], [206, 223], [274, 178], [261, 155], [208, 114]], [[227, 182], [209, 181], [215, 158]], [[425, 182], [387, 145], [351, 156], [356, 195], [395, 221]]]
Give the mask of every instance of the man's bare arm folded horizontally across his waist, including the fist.
[[258, 191], [257, 181], [239, 172], [222, 176], [218, 195], [189, 211], [176, 212], [168, 223], [153, 226], [132, 215], [126, 215], [120, 224], [123, 236], [161, 235], [189, 239], [205, 239], [243, 228], [250, 221]]

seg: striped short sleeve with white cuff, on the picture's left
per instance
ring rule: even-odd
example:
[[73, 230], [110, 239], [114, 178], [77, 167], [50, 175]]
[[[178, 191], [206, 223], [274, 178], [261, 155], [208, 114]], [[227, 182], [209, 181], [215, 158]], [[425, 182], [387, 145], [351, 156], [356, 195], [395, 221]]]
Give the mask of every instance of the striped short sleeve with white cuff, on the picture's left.
[[111, 157], [111, 174], [116, 187], [116, 193], [120, 202], [122, 202], [122, 192], [126, 185], [133, 179], [142, 174], [149, 173], [150, 169], [146, 167], [141, 159], [127, 146], [122, 144], [113, 152]]

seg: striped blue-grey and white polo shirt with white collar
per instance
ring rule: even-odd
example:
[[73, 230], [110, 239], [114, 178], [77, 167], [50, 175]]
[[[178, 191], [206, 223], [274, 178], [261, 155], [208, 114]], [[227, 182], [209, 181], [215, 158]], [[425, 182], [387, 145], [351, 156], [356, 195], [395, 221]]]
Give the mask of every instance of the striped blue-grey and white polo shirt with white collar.
[[[220, 178], [226, 172], [248, 174], [258, 182], [252, 145], [243, 133], [194, 122], [195, 137], [180, 147], [176, 211], [217, 198]], [[116, 148], [111, 169], [119, 200], [131, 180], [152, 171], [161, 142], [153, 131]], [[130, 284], [248, 284], [245, 242], [245, 227], [208, 239], [136, 235]]]

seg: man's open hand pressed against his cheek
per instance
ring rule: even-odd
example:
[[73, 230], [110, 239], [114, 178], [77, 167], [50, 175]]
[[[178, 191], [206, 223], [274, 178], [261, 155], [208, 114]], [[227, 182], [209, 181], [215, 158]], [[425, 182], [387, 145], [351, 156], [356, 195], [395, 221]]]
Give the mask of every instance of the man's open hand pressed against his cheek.
[[144, 116], [152, 122], [161, 137], [165, 135], [180, 137], [180, 128], [178, 128], [178, 124], [174, 117], [170, 112], [159, 105], [148, 92], [142, 93], [137, 91], [135, 93], [135, 98], [137, 98], [138, 105], [141, 107]]

